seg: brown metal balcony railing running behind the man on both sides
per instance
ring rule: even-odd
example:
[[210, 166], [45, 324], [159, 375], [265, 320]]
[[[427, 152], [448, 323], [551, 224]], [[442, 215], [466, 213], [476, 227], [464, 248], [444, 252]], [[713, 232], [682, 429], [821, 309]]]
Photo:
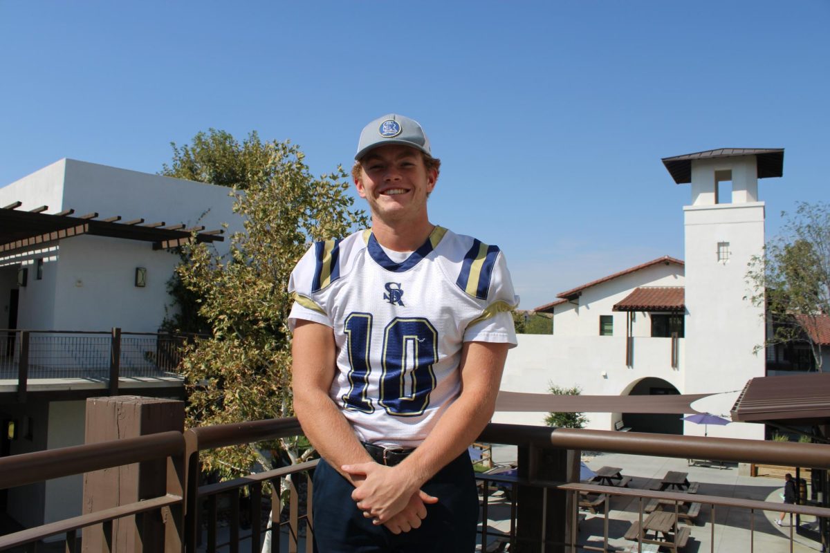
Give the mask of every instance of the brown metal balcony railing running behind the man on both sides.
[[[63, 535], [67, 551], [78, 551], [76, 538], [77, 531], [81, 529], [95, 527], [104, 536], [111, 536], [114, 521], [125, 517], [155, 517], [164, 521], [164, 551], [197, 551], [200, 541], [206, 545], [207, 551], [216, 551], [221, 546], [227, 546], [229, 551], [239, 551], [240, 543], [249, 541], [250, 551], [258, 553], [263, 533], [271, 529], [275, 535], [271, 540], [271, 551], [280, 551], [280, 540], [276, 539], [276, 535], [280, 533], [281, 528], [286, 528], [288, 534], [288, 551], [300, 551], [304, 531], [305, 551], [310, 551], [313, 521], [310, 515], [311, 490], [307, 474], [314, 468], [315, 462], [252, 474], [229, 482], [199, 483], [199, 455], [206, 449], [252, 444], [300, 434], [301, 429], [295, 419], [260, 420], [0, 458], [0, 488], [12, 488], [149, 459], [166, 458], [168, 462], [166, 493], [146, 497], [128, 505], [86, 513], [80, 517], [0, 536], [0, 550], [29, 546], [30, 551], [33, 551], [38, 541], [49, 536]], [[688, 494], [679, 492], [579, 483], [579, 451], [583, 449], [676, 458], [686, 458], [691, 454], [696, 458], [725, 461], [798, 465], [825, 470], [830, 468], [830, 445], [826, 444], [587, 429], [552, 430], [547, 427], [514, 424], [489, 424], [481, 434], [480, 441], [513, 444], [518, 447], [518, 474], [515, 477], [481, 476], [490, 482], [510, 488], [510, 531], [502, 536], [505, 543], [510, 543], [510, 551], [621, 551], [618, 547], [608, 545], [608, 507], [603, 546], [579, 543], [579, 492], [602, 493], [615, 497], [640, 497], [638, 516], [641, 524], [644, 499], [676, 503], [689, 501]], [[577, 467], [575, 473], [574, 464]], [[287, 483], [291, 493], [287, 502], [286, 520], [281, 521], [280, 502], [276, 490], [284, 488], [282, 484], [285, 478], [300, 473], [305, 473], [306, 476], [299, 481], [295, 477]], [[270, 501], [274, 521], [261, 516], [261, 498], [265, 483], [271, 483], [271, 489], [274, 490], [271, 492]], [[305, 483], [308, 487], [309, 495], [305, 508], [300, 505], [300, 483]], [[485, 483], [483, 488], [487, 490], [488, 483]], [[482, 551], [486, 551], [484, 547], [488, 543], [488, 534], [493, 533], [488, 529], [486, 522], [489, 495], [486, 491], [482, 494]], [[247, 502], [248, 507], [244, 509], [240, 507], [239, 501], [242, 496], [250, 498]], [[705, 503], [713, 510], [716, 507], [740, 507], [753, 513], [758, 510], [774, 510], [830, 518], [830, 508], [827, 507], [782, 505], [777, 502], [709, 495], [696, 495], [694, 501]], [[569, 507], [566, 508], [568, 502]], [[223, 504], [225, 514], [222, 516], [227, 520], [228, 529], [224, 542], [219, 538], [217, 531]], [[241, 535], [239, 531], [242, 521], [250, 527], [245, 535]], [[710, 531], [714, 537], [714, 517], [712, 521]], [[552, 528], [561, 530], [551, 531]], [[749, 531], [750, 536], [754, 536], [754, 524]], [[692, 537], [694, 536], [692, 534]], [[642, 541], [644, 540], [639, 540], [641, 543]], [[715, 551], [714, 543], [713, 539], [711, 551]], [[662, 541], [661, 544], [673, 549], [669, 541]], [[792, 547], [792, 536], [790, 546]], [[749, 551], [754, 551], [753, 547], [754, 540], [750, 537]]]

